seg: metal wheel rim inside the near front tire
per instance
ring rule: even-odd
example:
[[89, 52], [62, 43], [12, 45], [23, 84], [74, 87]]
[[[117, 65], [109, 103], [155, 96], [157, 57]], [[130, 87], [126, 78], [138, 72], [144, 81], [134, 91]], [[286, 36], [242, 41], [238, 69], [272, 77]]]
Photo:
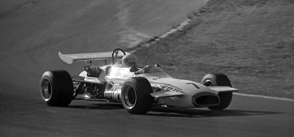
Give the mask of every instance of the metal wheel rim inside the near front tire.
[[128, 109], [132, 109], [137, 102], [137, 94], [135, 88], [131, 85], [127, 85], [123, 94], [125, 105]]

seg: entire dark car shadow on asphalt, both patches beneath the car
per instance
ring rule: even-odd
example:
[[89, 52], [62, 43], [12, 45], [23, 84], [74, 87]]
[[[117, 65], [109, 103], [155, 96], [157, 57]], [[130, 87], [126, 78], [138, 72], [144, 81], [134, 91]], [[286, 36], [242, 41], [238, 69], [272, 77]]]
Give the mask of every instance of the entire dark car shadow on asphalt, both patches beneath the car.
[[[94, 109], [94, 110], [114, 110], [123, 109], [121, 103], [95, 103], [91, 105], [70, 105], [67, 108], [76, 109]], [[187, 108], [168, 108], [153, 106], [151, 110], [145, 114], [150, 116], [166, 116], [166, 117], [225, 117], [225, 116], [250, 116], [250, 115], [267, 115], [267, 114], [284, 114], [282, 112], [268, 111], [252, 111], [252, 110], [221, 110], [211, 111], [203, 109], [187, 109]]]

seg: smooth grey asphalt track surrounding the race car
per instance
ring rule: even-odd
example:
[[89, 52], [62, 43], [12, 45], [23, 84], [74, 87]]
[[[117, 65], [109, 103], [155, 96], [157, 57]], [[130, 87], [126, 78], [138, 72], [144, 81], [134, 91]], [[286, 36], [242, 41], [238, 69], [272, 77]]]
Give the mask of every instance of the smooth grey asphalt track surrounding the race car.
[[1, 16], [0, 136], [292, 137], [294, 101], [233, 95], [224, 111], [153, 107], [132, 115], [116, 103], [74, 100], [60, 108], [41, 100], [44, 71], [82, 69], [60, 61], [58, 51], [135, 45], [183, 22], [201, 5], [192, 1], [41, 0]]

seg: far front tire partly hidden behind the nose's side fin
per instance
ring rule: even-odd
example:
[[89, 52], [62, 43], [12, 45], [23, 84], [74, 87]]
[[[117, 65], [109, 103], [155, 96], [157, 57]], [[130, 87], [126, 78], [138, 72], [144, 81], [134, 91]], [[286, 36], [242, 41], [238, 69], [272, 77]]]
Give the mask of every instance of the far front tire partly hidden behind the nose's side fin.
[[[205, 86], [228, 86], [232, 87], [229, 78], [222, 73], [207, 74], [203, 77], [201, 83]], [[227, 108], [232, 100], [233, 92], [220, 92], [220, 104], [208, 107], [210, 110], [223, 110]]]

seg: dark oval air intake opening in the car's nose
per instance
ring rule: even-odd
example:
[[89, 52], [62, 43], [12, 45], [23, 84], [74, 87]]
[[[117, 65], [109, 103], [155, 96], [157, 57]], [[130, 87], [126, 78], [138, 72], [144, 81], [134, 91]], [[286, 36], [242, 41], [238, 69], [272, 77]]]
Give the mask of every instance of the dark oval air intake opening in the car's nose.
[[199, 92], [192, 96], [192, 102], [196, 108], [216, 106], [220, 104], [220, 97], [212, 92]]

